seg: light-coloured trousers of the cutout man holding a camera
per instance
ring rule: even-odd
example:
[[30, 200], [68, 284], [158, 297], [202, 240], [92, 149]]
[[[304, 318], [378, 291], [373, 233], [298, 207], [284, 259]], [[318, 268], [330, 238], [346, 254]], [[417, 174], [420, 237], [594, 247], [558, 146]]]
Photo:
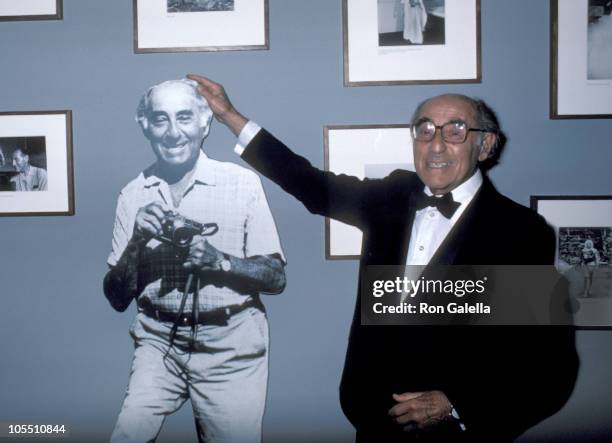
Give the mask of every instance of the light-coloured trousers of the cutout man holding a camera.
[[111, 442], [155, 441], [167, 415], [190, 398], [200, 439], [259, 443], [268, 382], [268, 322], [247, 308], [227, 325], [200, 325], [195, 350], [181, 327], [168, 351], [170, 324], [139, 313], [130, 329], [134, 360]]

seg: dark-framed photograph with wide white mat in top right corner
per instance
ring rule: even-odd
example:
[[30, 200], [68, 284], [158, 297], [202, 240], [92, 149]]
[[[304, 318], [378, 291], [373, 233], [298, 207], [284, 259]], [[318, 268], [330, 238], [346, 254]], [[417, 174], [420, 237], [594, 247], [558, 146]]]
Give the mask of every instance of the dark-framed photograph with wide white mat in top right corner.
[[612, 118], [612, 2], [551, 0], [550, 117]]

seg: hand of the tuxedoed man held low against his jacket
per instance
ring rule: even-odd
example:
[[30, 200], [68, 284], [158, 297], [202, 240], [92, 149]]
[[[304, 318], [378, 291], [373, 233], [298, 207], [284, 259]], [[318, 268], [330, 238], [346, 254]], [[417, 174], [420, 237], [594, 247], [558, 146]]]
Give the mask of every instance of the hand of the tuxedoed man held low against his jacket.
[[389, 415], [404, 431], [427, 430], [450, 417], [452, 406], [442, 391], [393, 394], [398, 402]]

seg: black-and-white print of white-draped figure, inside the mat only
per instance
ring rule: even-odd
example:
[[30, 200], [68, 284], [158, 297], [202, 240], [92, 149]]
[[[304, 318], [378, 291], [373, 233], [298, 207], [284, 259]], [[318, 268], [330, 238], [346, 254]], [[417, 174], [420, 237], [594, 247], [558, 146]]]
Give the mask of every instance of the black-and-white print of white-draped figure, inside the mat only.
[[443, 45], [446, 0], [378, 0], [379, 46]]

